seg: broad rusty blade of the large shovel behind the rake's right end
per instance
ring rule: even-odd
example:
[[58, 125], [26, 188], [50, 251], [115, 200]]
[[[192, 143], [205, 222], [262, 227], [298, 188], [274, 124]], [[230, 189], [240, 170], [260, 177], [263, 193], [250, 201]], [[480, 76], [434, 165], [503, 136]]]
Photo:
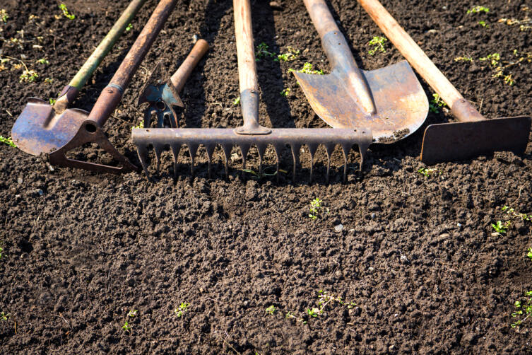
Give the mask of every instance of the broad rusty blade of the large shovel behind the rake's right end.
[[341, 68], [331, 74], [315, 75], [295, 72], [314, 112], [333, 128], [367, 127], [377, 143], [394, 143], [415, 132], [427, 117], [427, 95], [408, 62], [363, 71], [374, 105], [366, 112], [349, 88]]

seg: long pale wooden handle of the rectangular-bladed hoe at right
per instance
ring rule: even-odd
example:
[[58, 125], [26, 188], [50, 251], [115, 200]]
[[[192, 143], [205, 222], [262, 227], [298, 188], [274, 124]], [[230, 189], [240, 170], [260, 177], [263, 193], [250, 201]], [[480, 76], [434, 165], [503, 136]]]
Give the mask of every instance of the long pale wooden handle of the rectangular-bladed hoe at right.
[[451, 111], [461, 121], [485, 120], [473, 105], [463, 98], [461, 93], [442, 74], [427, 54], [414, 42], [401, 25], [390, 15], [386, 8], [377, 0], [357, 0], [370, 14], [371, 18], [384, 35], [394, 43], [397, 50], [403, 54], [416, 71], [438, 93], [438, 95], [451, 107]]

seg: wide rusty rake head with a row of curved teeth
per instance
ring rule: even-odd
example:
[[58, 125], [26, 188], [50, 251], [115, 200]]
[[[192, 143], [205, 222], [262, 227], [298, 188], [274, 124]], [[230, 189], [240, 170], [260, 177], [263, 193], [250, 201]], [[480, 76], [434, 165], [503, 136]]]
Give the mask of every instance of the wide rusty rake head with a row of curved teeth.
[[237, 134], [235, 129], [150, 129], [136, 128], [132, 131], [133, 143], [138, 152], [144, 172], [148, 174], [148, 151], [153, 148], [159, 170], [160, 156], [162, 151], [170, 149], [174, 159], [174, 175], [177, 176], [177, 156], [183, 145], [187, 146], [191, 158], [191, 174], [194, 174], [194, 159], [199, 146], [204, 146], [208, 156], [208, 175], [211, 177], [212, 156], [216, 146], [221, 146], [225, 158], [225, 175], [229, 173], [229, 157], [233, 146], [238, 146], [242, 153], [242, 165], [246, 168], [246, 157], [249, 149], [256, 146], [259, 152], [259, 175], [262, 173], [262, 162], [264, 153], [268, 146], [273, 146], [276, 151], [276, 175], [279, 171], [280, 152], [286, 145], [290, 146], [293, 158], [292, 179], [295, 180], [295, 170], [299, 160], [300, 148], [306, 145], [310, 152], [311, 168], [310, 180], [312, 181], [312, 167], [314, 165], [314, 153], [318, 147], [323, 145], [327, 153], [327, 175], [329, 181], [329, 170], [331, 166], [331, 154], [336, 145], [340, 145], [343, 151], [344, 169], [343, 180], [347, 179], [347, 157], [353, 145], [357, 145], [360, 151], [360, 170], [364, 162], [367, 149], [372, 144], [372, 134], [369, 129], [292, 129], [273, 128], [269, 134]]

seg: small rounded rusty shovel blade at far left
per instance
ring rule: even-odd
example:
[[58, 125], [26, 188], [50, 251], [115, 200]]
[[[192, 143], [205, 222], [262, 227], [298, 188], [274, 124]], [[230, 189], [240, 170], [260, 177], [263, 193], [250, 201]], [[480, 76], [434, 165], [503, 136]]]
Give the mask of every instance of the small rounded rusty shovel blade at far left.
[[88, 112], [77, 109], [57, 115], [46, 101], [30, 98], [13, 125], [11, 136], [20, 150], [33, 156], [51, 153], [73, 139], [86, 117]]

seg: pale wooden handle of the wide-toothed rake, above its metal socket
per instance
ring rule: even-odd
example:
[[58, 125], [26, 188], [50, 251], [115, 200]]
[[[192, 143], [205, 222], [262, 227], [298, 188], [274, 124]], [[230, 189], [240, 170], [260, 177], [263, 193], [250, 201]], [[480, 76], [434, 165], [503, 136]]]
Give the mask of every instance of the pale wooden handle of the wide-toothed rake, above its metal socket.
[[259, 90], [253, 47], [252, 9], [249, 0], [233, 0], [235, 35], [237, 37], [238, 77], [240, 93]]

